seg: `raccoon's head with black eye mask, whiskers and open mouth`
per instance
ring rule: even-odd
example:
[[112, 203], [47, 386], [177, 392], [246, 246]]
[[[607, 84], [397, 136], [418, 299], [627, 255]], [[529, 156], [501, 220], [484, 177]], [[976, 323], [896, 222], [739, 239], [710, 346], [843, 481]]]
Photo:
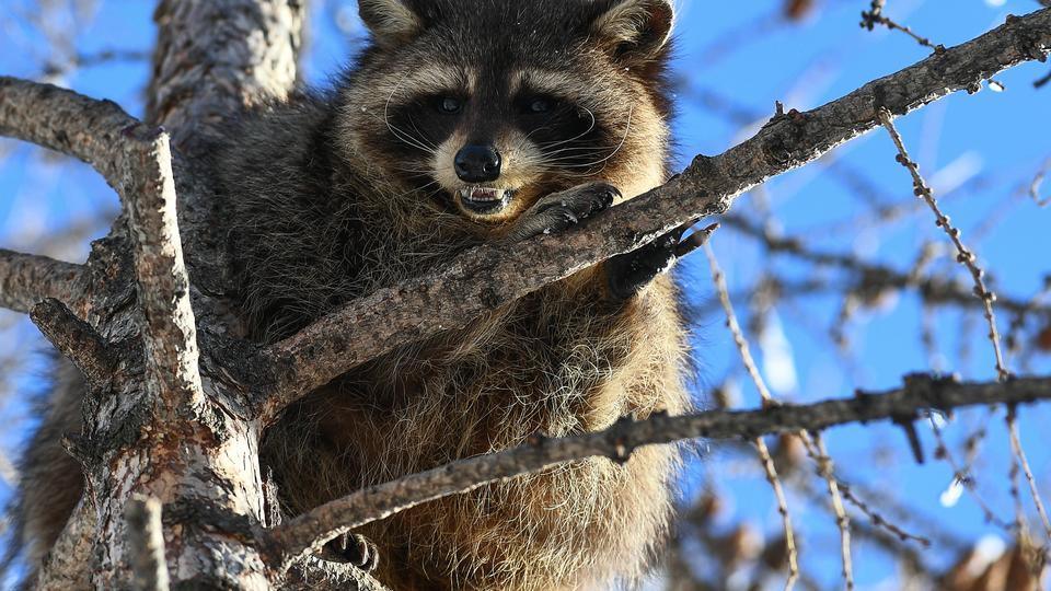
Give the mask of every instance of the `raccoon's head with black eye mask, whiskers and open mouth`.
[[667, 0], [360, 0], [376, 46], [343, 90], [354, 160], [481, 222], [593, 179], [660, 184]]

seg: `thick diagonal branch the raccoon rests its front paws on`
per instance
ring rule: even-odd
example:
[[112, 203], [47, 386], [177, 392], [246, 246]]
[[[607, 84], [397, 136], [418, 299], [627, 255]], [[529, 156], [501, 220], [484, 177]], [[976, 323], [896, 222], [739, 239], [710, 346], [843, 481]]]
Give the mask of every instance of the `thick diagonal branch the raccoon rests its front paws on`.
[[[393, 347], [463, 326], [678, 225], [726, 211], [734, 198], [771, 176], [811, 162], [879, 125], [877, 109], [903, 115], [950, 92], [1051, 50], [1051, 9], [1007, 23], [813, 111], [776, 115], [751, 139], [697, 157], [666, 185], [559, 235], [512, 246], [484, 245], [450, 264], [356, 300], [263, 352], [269, 387], [257, 401], [264, 420], [355, 366]], [[426, 310], [426, 314], [420, 311]]]

